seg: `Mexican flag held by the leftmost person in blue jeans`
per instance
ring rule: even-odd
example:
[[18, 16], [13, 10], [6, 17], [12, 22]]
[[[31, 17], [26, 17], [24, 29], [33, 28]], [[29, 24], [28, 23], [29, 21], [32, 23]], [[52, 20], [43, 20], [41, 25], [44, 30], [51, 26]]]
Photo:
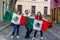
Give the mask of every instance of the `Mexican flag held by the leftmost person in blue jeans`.
[[6, 11], [6, 13], [3, 17], [3, 20], [6, 21], [6, 22], [11, 22], [11, 23], [14, 23], [14, 24], [24, 26], [25, 22], [26, 22], [26, 17], [18, 15], [16, 13], [8, 10], [8, 11]]

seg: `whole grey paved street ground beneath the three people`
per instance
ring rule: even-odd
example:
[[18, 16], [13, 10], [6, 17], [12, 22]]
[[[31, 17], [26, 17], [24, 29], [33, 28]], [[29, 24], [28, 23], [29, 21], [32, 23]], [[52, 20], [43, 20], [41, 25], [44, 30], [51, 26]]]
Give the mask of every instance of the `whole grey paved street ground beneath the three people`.
[[[46, 17], [47, 18], [47, 17]], [[1, 24], [2, 25], [2, 24]], [[7, 25], [7, 24], [6, 24]], [[60, 25], [59, 24], [52, 24], [52, 28], [49, 28], [46, 32], [43, 33], [44, 39], [43, 40], [60, 40]], [[3, 27], [3, 26], [2, 26]], [[1, 26], [0, 26], [1, 28]], [[30, 35], [29, 39], [25, 39], [26, 28], [20, 27], [20, 38], [17, 39], [16, 35], [13, 39], [11, 39], [11, 33], [13, 31], [12, 26], [6, 26], [5, 28], [0, 30], [0, 40], [32, 40], [34, 30]], [[37, 33], [36, 40], [40, 40], [40, 33]]]

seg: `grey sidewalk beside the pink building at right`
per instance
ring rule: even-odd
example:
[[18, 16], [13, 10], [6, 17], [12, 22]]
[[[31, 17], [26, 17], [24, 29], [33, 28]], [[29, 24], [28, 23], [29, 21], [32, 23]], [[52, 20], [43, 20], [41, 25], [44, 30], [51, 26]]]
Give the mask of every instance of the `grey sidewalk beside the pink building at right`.
[[52, 23], [52, 28], [49, 28], [50, 32], [53, 33], [60, 39], [60, 24]]

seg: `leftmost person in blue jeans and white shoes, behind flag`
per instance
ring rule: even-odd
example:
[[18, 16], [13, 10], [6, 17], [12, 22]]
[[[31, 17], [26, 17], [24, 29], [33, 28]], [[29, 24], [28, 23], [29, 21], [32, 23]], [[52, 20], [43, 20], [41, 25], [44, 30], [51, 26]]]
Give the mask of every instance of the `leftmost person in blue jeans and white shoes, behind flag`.
[[[14, 13], [15, 14], [15, 13]], [[14, 17], [14, 19], [13, 20], [15, 20], [16, 21], [16, 24], [13, 24], [13, 32], [12, 32], [12, 36], [11, 36], [11, 38], [14, 38], [14, 34], [15, 34], [15, 32], [17, 33], [17, 38], [20, 38], [19, 37], [19, 30], [20, 30], [20, 24], [17, 24], [17, 21], [19, 20], [19, 16], [21, 15], [21, 13], [20, 13], [20, 11], [17, 11], [17, 13], [15, 14], [15, 15], [17, 15], [16, 17]]]

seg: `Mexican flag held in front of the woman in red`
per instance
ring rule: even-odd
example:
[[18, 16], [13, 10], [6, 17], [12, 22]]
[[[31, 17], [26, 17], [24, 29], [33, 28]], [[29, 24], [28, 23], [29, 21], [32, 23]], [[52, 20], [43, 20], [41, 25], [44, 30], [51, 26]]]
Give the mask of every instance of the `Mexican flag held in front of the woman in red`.
[[50, 22], [47, 20], [37, 20], [33, 18], [26, 18], [26, 27], [38, 31], [46, 31], [50, 25]]

